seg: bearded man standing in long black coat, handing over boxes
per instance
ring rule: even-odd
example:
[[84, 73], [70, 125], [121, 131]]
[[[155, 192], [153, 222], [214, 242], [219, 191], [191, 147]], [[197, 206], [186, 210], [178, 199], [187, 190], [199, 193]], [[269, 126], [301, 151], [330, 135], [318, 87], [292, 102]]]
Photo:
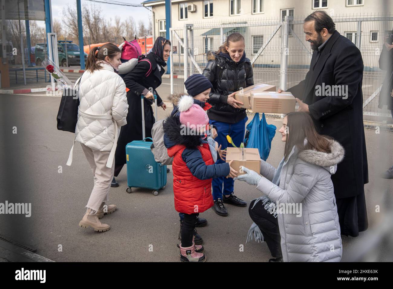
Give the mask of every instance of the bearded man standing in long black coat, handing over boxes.
[[319, 133], [331, 136], [345, 149], [332, 182], [341, 234], [356, 237], [368, 227], [362, 55], [351, 40], [335, 30], [325, 11], [315, 11], [305, 18], [303, 30], [314, 50], [310, 70], [288, 91], [296, 97], [299, 111], [310, 113]]

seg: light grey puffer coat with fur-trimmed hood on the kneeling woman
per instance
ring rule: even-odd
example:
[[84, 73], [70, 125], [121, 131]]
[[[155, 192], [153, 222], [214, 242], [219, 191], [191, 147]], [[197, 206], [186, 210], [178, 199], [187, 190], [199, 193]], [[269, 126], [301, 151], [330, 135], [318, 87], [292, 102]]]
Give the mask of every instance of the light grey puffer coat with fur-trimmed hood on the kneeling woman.
[[299, 151], [294, 146], [281, 169], [279, 186], [271, 182], [276, 169], [261, 160], [264, 178], [257, 189], [276, 204], [301, 203], [300, 217], [277, 214], [284, 262], [341, 260], [342, 242], [331, 173], [343, 157], [344, 149], [336, 141], [331, 144], [331, 153]]

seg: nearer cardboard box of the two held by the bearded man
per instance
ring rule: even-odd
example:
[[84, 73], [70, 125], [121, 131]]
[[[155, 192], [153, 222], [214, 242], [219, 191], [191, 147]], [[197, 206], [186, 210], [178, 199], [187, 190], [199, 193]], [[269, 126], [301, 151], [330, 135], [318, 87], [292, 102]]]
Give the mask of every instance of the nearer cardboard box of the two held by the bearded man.
[[253, 112], [288, 113], [295, 111], [296, 99], [290, 92], [252, 92], [250, 105]]

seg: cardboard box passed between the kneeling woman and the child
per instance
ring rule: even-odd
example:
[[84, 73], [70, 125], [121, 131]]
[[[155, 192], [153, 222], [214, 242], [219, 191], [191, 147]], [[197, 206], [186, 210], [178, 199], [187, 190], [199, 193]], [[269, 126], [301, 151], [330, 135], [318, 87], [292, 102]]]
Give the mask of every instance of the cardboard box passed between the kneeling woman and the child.
[[231, 168], [239, 172], [237, 175], [244, 174], [240, 172], [240, 166], [252, 169], [257, 173], [261, 171], [261, 157], [259, 156], [258, 149], [253, 149], [249, 147], [227, 147], [226, 162], [230, 162], [231, 160], [233, 160]]

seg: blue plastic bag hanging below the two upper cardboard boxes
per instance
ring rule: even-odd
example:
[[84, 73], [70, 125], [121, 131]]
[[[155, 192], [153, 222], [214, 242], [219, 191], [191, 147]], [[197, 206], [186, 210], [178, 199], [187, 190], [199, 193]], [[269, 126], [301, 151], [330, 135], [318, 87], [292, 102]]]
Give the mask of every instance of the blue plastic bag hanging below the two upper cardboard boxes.
[[253, 147], [259, 150], [262, 160], [266, 160], [272, 147], [272, 139], [277, 127], [266, 122], [265, 114], [259, 120], [259, 113], [255, 113], [254, 118], [246, 127], [244, 147]]

